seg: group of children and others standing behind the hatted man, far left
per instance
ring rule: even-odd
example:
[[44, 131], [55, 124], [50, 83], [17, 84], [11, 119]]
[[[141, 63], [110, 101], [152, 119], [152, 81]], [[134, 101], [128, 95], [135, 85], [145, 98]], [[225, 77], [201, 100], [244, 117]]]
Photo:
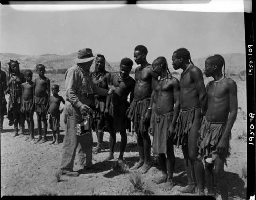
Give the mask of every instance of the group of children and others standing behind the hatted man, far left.
[[[33, 72], [29, 69], [20, 72], [17, 60], [10, 60], [9, 79], [6, 79], [6, 73], [1, 70], [1, 104], [0, 104], [0, 131], [3, 130], [3, 117], [7, 115], [9, 126], [14, 124], [13, 137], [25, 136], [25, 120], [28, 124], [30, 137], [26, 141], [34, 143], [45, 143], [47, 139], [47, 120], [49, 115], [49, 124], [53, 134], [53, 141], [50, 144], [59, 144], [60, 103], [65, 103], [64, 99], [58, 95], [59, 86], [54, 84], [50, 88], [50, 80], [45, 77], [45, 66], [36, 65], [36, 71], [39, 75], [33, 82]], [[1, 66], [1, 63], [0, 63]], [[50, 91], [52, 90], [52, 96]], [[9, 94], [8, 109], [5, 94]], [[34, 137], [34, 112], [37, 115], [38, 139]], [[19, 125], [19, 127], [18, 127]], [[20, 129], [19, 129], [20, 128]]]

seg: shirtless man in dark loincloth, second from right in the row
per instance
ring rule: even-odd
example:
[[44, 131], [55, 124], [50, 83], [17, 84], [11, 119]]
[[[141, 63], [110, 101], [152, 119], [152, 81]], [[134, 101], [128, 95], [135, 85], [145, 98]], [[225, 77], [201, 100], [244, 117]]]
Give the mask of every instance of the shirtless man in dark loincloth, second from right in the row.
[[177, 146], [182, 145], [188, 185], [180, 189], [180, 192], [192, 193], [197, 183], [198, 194], [204, 195], [204, 166], [202, 160], [197, 158], [201, 110], [205, 115], [207, 105], [203, 74], [192, 63], [190, 53], [186, 48], [177, 49], [173, 53], [172, 61], [175, 70], [183, 69], [180, 78], [181, 110], [175, 128], [174, 142]]

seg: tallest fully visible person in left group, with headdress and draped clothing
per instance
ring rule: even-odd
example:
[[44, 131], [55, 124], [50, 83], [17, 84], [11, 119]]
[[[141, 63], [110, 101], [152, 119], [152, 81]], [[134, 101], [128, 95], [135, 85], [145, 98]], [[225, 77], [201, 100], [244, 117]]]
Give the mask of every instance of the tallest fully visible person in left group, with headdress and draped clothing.
[[[10, 94], [8, 114], [7, 117], [10, 121], [14, 121], [14, 135], [24, 136], [24, 114], [20, 111], [22, 103], [22, 83], [25, 82], [24, 75], [20, 73], [19, 63], [16, 60], [10, 60], [9, 65], [9, 81], [6, 92]], [[12, 123], [12, 122], [10, 122]], [[18, 131], [18, 123], [20, 131]]]

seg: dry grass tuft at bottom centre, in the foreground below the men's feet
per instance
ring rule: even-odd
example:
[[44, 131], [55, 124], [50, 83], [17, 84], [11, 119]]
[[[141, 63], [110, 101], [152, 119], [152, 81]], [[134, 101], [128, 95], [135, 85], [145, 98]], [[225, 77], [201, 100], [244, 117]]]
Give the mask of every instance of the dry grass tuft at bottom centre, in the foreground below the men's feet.
[[131, 172], [129, 174], [129, 181], [133, 185], [133, 187], [130, 188], [130, 193], [143, 193], [144, 195], [154, 194], [151, 188], [148, 187], [144, 181], [142, 181], [141, 174], [138, 172]]

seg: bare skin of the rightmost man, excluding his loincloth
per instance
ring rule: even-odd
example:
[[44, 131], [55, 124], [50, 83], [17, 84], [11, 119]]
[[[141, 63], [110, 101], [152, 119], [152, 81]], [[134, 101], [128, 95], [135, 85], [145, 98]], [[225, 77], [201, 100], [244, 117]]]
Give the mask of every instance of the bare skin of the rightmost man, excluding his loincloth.
[[[218, 81], [223, 76], [222, 67], [205, 61], [204, 73], [206, 77]], [[228, 184], [224, 176], [224, 161], [228, 152], [229, 133], [237, 117], [238, 100], [237, 84], [230, 78], [225, 78], [218, 83], [211, 81], [207, 84], [208, 109], [206, 118], [211, 122], [227, 122], [225, 131], [216, 147], [217, 157], [213, 163], [205, 162], [206, 184], [210, 194], [214, 194], [215, 176], [220, 188], [221, 198], [228, 199]], [[215, 170], [213, 170], [215, 168]]]

